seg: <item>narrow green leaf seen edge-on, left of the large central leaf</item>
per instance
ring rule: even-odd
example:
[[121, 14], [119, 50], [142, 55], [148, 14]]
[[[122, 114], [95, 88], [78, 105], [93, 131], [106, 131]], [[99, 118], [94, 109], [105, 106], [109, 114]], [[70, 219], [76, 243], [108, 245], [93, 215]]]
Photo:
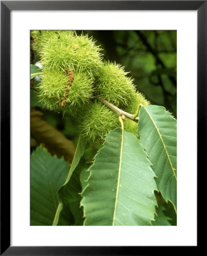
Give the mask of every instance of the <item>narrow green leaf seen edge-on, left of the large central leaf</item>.
[[61, 187], [59, 188], [59, 191], [58, 191], [59, 207], [57, 208], [57, 212], [56, 212], [55, 218], [53, 220], [53, 224], [52, 224], [53, 226], [56, 226], [59, 223], [61, 210], [64, 210], [64, 212], [63, 212], [64, 215], [72, 214], [72, 209], [69, 209], [69, 205], [67, 205], [67, 210], [66, 210], [66, 206], [64, 205], [64, 195], [65, 195], [64, 191], [65, 191], [65, 189], [68, 188], [67, 184], [68, 184], [69, 180], [71, 179], [74, 170], [77, 168], [82, 155], [84, 155], [85, 146], [86, 146], [86, 142], [84, 141], [84, 139], [82, 139], [82, 137], [80, 135], [80, 137], [78, 139], [77, 147], [76, 147], [76, 152], [74, 154], [73, 161], [71, 164], [71, 168], [69, 169], [69, 172], [67, 175], [67, 179], [65, 180], [64, 184], [61, 185]]

